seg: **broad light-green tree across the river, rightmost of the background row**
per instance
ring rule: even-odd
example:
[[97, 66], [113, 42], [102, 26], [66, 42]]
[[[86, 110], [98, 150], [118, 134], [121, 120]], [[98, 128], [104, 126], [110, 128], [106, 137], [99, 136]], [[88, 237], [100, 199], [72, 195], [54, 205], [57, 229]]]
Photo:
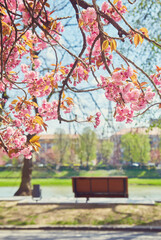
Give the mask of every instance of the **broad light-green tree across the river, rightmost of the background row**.
[[121, 137], [121, 148], [124, 161], [143, 165], [150, 160], [150, 139], [147, 135], [127, 133]]

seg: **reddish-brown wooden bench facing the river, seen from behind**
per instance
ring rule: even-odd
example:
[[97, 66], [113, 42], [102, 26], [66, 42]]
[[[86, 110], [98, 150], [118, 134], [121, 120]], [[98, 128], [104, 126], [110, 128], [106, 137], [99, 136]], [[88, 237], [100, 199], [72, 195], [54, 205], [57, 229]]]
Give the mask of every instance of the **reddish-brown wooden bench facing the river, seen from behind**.
[[72, 177], [76, 198], [128, 198], [127, 177]]

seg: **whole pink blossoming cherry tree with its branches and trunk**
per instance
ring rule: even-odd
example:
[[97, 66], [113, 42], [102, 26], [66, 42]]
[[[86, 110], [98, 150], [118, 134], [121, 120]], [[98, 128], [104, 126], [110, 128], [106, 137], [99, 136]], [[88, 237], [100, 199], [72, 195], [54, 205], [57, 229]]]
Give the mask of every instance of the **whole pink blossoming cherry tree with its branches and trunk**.
[[[148, 75], [119, 51], [119, 42], [134, 44], [135, 49], [143, 41], [161, 47], [144, 26], [134, 29], [128, 23], [126, 3], [107, 0], [98, 5], [96, 0], [69, 0], [77, 21], [75, 28], [82, 36], [77, 55], [61, 41], [63, 20], [71, 16], [64, 12], [63, 17], [57, 17], [50, 4], [51, 0], [0, 0], [0, 147], [11, 158], [24, 156], [17, 194], [31, 194], [30, 159], [32, 152], [39, 150], [38, 134], [47, 129], [47, 121], [87, 121], [94, 127], [99, 125], [99, 112], [94, 116], [89, 113], [86, 119], [78, 119], [74, 114], [73, 119], [69, 118], [75, 104], [69, 92], [85, 94], [102, 89], [107, 100], [115, 103], [116, 121], [127, 123], [141, 111], [161, 106], [154, 102], [155, 96], [161, 97], [161, 68], [156, 66], [156, 72]], [[108, 32], [110, 26], [117, 34]], [[48, 47], [55, 63], [42, 74], [39, 53]], [[60, 63], [58, 48], [72, 59], [66, 65]], [[116, 67], [114, 58], [123, 63]], [[91, 79], [95, 86], [83, 88]], [[11, 92], [15, 96], [12, 101], [8, 98]]]

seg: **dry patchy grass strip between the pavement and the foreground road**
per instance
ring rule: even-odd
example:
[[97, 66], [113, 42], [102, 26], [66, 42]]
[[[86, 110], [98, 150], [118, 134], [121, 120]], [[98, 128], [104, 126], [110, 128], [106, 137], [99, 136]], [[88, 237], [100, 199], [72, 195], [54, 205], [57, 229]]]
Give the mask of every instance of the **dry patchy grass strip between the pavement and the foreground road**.
[[0, 202], [0, 225], [150, 225], [161, 226], [161, 205], [17, 205]]

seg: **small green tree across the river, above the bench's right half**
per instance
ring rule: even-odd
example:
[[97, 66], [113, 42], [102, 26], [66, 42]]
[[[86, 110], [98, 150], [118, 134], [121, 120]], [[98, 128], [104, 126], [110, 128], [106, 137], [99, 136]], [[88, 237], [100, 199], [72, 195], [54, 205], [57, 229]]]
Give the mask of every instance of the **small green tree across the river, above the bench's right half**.
[[110, 140], [101, 140], [98, 144], [98, 153], [103, 164], [108, 164], [113, 153], [114, 143]]

